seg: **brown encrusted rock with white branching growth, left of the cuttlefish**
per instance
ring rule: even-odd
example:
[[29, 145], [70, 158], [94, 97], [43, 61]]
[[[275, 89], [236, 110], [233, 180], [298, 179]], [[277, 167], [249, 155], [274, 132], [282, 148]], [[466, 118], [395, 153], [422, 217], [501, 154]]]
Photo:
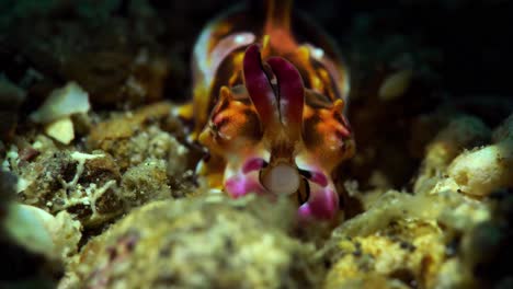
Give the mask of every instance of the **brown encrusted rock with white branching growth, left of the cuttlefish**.
[[11, 144], [2, 165], [19, 176], [18, 198], [24, 204], [54, 215], [66, 210], [84, 227], [99, 227], [133, 207], [192, 190], [187, 149], [156, 124], [149, 126], [169, 112], [168, 104], [157, 104], [94, 127], [94, 143], [113, 155], [62, 149], [37, 135]]

